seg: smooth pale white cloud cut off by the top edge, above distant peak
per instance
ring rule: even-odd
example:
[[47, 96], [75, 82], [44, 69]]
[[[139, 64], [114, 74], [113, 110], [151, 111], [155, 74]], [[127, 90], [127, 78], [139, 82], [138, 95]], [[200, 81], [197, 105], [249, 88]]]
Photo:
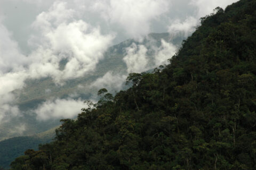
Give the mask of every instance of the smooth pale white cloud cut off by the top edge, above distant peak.
[[166, 13], [170, 5], [167, 0], [109, 0], [97, 1], [91, 9], [122, 27], [130, 37], [140, 38], [151, 32], [150, 22]]

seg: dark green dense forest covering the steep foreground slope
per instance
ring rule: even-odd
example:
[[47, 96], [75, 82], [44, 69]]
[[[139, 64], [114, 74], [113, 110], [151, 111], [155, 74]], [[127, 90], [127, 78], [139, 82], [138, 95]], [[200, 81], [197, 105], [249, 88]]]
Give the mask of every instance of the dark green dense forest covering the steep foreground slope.
[[62, 120], [12, 169], [255, 169], [256, 1], [201, 19], [170, 65]]

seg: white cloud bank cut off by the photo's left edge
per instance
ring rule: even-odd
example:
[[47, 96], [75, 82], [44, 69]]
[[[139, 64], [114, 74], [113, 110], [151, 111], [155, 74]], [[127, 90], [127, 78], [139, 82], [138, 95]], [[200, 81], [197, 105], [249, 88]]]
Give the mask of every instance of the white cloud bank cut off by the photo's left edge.
[[24, 66], [28, 64], [27, 57], [20, 54], [18, 44], [12, 34], [2, 24], [0, 19], [0, 124], [19, 115], [19, 108], [13, 103], [15, 97], [12, 91], [21, 89], [26, 79]]

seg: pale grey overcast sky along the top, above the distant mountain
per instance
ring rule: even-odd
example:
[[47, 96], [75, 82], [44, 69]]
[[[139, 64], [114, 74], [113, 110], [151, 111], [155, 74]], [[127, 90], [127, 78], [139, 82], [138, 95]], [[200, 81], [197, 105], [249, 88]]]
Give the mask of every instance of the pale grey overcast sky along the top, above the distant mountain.
[[[0, 21], [18, 42], [22, 53], [31, 52], [29, 40], [41, 33], [33, 27], [42, 13], [54, 11], [52, 17], [83, 20], [99, 27], [102, 34], [114, 34], [112, 43], [144, 36], [149, 32], [167, 32], [173, 22], [195, 24], [217, 6], [225, 8], [237, 0], [1, 0]], [[63, 4], [62, 9], [57, 6]], [[67, 16], [69, 15], [69, 16]], [[54, 19], [53, 19], [54, 20]], [[63, 20], [62, 20], [63, 21]], [[61, 19], [58, 24], [61, 24]], [[54, 21], [50, 21], [54, 22]], [[57, 25], [55, 25], [57, 26]], [[185, 25], [191, 27], [192, 25]], [[193, 25], [195, 26], [195, 25]], [[184, 28], [187, 29], [187, 28]], [[42, 30], [41, 30], [42, 31]]]

